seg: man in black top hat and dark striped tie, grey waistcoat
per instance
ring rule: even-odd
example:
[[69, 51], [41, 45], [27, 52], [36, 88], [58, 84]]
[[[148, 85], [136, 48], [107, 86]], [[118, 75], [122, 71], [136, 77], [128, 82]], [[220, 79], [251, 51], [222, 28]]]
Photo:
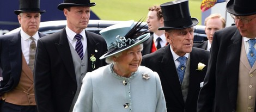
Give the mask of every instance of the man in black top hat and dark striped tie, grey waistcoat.
[[107, 51], [102, 36], [84, 30], [88, 26], [89, 0], [64, 0], [58, 5], [66, 27], [38, 40], [35, 60], [35, 99], [40, 112], [72, 111], [87, 72], [103, 65]]

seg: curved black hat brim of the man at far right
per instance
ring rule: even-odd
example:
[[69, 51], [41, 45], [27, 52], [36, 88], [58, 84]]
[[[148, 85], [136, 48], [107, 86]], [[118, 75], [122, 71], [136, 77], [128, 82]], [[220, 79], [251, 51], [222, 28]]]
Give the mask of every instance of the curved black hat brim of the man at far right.
[[231, 0], [228, 1], [226, 10], [228, 11], [228, 13], [233, 14], [235, 16], [249, 16], [249, 15], [256, 14], [256, 11], [254, 11], [253, 13], [240, 13], [240, 12], [235, 11], [234, 10], [234, 1], [231, 1]]

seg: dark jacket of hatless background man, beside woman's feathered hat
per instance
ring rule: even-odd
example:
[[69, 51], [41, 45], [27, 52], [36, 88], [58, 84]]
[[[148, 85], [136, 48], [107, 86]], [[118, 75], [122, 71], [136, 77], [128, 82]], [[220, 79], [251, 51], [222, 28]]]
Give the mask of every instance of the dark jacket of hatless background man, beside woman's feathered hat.
[[153, 45], [153, 35], [151, 35], [148, 40], [143, 42], [143, 50], [141, 52], [142, 55], [151, 53], [152, 45]]

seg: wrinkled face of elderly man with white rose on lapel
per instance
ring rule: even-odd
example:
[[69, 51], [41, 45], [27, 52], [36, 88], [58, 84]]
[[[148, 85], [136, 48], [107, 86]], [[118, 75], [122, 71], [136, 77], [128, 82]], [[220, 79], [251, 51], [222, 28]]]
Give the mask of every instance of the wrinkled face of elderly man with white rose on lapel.
[[172, 29], [165, 32], [166, 39], [173, 51], [179, 56], [192, 51], [194, 32], [193, 27], [186, 29]]

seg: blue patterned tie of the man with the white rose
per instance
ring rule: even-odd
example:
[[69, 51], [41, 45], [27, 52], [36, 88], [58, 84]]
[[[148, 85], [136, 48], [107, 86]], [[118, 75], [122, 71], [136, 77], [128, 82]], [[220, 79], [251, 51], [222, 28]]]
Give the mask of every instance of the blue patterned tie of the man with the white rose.
[[185, 69], [186, 69], [186, 67], [185, 67], [186, 57], [179, 57], [177, 60], [180, 62], [180, 65], [177, 68], [177, 72], [178, 72], [178, 76], [180, 79], [180, 84], [182, 84]]

